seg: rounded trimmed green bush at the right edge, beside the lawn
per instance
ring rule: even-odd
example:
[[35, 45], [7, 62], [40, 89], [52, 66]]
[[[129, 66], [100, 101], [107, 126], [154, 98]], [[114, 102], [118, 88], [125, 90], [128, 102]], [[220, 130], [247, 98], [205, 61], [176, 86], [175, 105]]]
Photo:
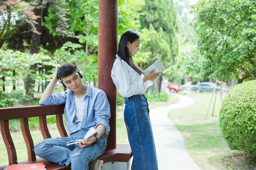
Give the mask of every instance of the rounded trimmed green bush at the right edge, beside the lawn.
[[229, 147], [256, 155], [256, 80], [231, 89], [221, 104], [220, 127]]

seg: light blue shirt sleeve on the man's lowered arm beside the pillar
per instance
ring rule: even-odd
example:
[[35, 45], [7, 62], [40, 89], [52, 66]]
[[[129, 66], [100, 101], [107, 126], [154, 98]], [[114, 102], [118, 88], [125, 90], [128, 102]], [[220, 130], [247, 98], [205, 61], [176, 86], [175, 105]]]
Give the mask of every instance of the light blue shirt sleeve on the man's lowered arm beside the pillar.
[[96, 126], [102, 124], [106, 127], [105, 133], [108, 135], [110, 126], [109, 126], [109, 118], [110, 118], [110, 105], [108, 102], [107, 95], [105, 92], [101, 92], [98, 94], [95, 105], [95, 119], [96, 119]]

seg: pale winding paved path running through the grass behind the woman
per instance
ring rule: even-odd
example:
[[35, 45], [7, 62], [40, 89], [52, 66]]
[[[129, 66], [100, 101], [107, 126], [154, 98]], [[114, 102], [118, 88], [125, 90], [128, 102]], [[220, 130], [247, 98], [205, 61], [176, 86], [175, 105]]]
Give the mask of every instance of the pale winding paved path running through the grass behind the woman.
[[150, 110], [159, 170], [201, 170], [186, 152], [184, 139], [168, 119], [167, 113], [177, 108], [190, 106], [194, 99], [177, 95], [180, 101], [174, 105]]

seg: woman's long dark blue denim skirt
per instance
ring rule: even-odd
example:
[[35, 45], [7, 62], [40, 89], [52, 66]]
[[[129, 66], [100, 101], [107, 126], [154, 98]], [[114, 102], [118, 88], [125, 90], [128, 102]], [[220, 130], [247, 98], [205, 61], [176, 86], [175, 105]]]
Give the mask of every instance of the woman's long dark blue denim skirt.
[[131, 170], [158, 170], [148, 102], [143, 94], [125, 98], [125, 125], [131, 145]]

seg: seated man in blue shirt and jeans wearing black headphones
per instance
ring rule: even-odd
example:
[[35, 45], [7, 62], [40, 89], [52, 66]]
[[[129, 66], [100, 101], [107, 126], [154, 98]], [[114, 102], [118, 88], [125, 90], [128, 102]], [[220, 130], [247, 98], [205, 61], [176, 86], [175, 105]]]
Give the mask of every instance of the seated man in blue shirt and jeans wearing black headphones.
[[[72, 64], [57, 66], [55, 74], [40, 99], [40, 105], [65, 104], [64, 115], [70, 136], [40, 140], [35, 154], [60, 165], [71, 164], [72, 170], [88, 170], [88, 164], [101, 156], [110, 130], [110, 105], [104, 91], [82, 82], [82, 74]], [[67, 91], [52, 94], [59, 81]], [[90, 127], [97, 133], [84, 139]], [[67, 146], [67, 142], [83, 139]]]

